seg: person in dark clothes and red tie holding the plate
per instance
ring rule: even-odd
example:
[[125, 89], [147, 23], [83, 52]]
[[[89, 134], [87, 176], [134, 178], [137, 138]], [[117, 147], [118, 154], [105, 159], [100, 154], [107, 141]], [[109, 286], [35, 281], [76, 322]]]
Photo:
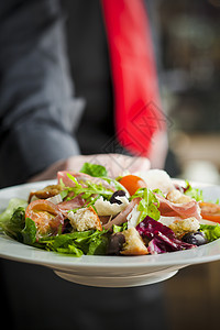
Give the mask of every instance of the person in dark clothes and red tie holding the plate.
[[[164, 166], [166, 118], [142, 0], [8, 0], [0, 28], [1, 187], [85, 162], [112, 176]], [[92, 288], [41, 266], [1, 267], [13, 329], [166, 327], [160, 285]]]

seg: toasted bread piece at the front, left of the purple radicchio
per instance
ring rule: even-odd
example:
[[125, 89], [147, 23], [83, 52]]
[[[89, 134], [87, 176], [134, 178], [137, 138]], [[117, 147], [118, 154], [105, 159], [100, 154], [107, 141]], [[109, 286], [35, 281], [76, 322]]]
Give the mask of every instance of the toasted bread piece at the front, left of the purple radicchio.
[[125, 238], [125, 243], [123, 250], [121, 251], [121, 254], [124, 255], [148, 254], [147, 248], [144, 245], [141, 235], [139, 234], [139, 232], [135, 230], [134, 227], [124, 230], [122, 233]]

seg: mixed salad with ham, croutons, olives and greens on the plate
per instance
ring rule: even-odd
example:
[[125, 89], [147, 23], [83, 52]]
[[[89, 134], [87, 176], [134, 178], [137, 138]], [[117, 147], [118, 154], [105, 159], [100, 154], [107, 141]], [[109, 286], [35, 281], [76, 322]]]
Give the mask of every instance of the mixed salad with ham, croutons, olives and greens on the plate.
[[[206, 220], [204, 220], [206, 219]], [[195, 249], [220, 238], [219, 201], [175, 185], [160, 169], [108, 176], [98, 164], [57, 173], [57, 184], [12, 198], [0, 230], [35, 248], [72, 256], [146, 255]]]

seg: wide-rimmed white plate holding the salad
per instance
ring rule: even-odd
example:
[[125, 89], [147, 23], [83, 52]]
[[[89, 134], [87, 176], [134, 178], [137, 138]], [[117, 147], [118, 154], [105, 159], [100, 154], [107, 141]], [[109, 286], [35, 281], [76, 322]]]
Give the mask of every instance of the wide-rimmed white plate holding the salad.
[[[33, 189], [54, 182], [14, 186], [0, 190], [0, 210], [12, 197], [28, 198]], [[206, 200], [220, 197], [220, 186], [201, 184]], [[174, 276], [178, 270], [199, 263], [220, 260], [220, 240], [187, 251], [143, 256], [64, 256], [24, 245], [0, 234], [0, 256], [13, 261], [44, 265], [58, 276], [78, 284], [102, 287], [127, 287], [161, 282]]]

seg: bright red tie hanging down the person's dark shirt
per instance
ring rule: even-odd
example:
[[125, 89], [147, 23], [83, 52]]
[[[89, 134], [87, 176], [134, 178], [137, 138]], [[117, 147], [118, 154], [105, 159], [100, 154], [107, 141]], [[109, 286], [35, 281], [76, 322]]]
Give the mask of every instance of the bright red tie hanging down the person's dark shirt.
[[142, 0], [101, 0], [112, 67], [120, 144], [147, 156], [165, 130], [148, 20]]

